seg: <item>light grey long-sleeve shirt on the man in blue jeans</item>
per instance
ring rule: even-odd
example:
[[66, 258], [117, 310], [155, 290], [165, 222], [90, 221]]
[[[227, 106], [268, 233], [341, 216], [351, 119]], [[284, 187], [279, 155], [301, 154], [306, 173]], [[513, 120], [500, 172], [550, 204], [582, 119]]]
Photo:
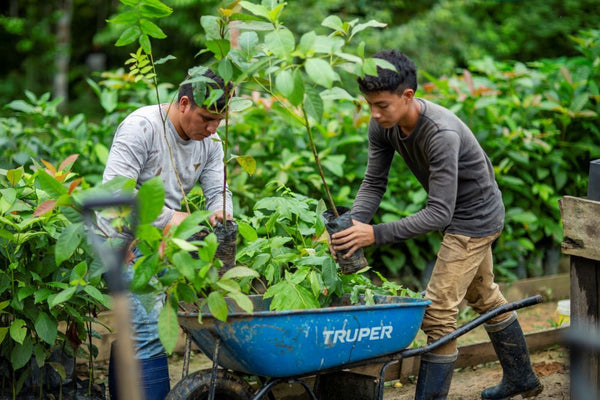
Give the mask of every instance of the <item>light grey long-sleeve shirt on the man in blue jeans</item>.
[[[223, 208], [223, 147], [217, 134], [204, 140], [183, 140], [167, 118], [166, 135], [163, 120], [168, 105], [162, 113], [158, 105], [146, 106], [129, 114], [117, 128], [113, 139], [103, 182], [116, 176], [136, 181], [136, 188], [147, 180], [160, 176], [165, 188], [165, 205], [153, 225], [164, 228], [175, 210], [181, 209], [183, 194], [177, 182], [169, 148], [183, 190], [187, 194], [196, 184], [206, 198], [206, 208], [218, 211]], [[231, 192], [227, 190], [227, 212], [233, 215]], [[100, 226], [106, 229], [109, 221], [99, 218]]]

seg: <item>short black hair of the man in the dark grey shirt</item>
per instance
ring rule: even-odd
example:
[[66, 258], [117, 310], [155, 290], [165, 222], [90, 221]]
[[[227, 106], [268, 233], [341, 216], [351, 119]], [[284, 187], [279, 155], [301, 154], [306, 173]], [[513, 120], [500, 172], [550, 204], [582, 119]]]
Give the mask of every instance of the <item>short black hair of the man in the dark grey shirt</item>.
[[404, 53], [397, 50], [381, 50], [373, 58], [380, 58], [396, 67], [397, 71], [377, 67], [377, 76], [365, 75], [358, 78], [358, 87], [363, 93], [396, 92], [402, 94], [410, 88], [417, 91], [417, 69]]

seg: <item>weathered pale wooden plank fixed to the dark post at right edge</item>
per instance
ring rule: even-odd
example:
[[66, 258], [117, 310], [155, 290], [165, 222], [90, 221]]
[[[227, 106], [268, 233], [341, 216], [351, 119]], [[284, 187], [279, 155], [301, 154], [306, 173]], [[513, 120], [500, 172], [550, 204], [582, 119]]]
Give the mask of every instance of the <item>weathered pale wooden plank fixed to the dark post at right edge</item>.
[[600, 261], [600, 202], [564, 196], [559, 200], [564, 254]]

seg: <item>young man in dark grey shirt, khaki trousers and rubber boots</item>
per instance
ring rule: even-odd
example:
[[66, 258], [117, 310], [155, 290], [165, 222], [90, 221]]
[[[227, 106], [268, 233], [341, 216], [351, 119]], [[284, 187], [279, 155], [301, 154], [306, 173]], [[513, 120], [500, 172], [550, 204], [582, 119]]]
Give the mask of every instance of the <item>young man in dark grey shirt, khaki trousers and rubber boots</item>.
[[[369, 158], [352, 217], [354, 226], [331, 237], [332, 253], [397, 243], [442, 231], [425, 297], [428, 306], [421, 328], [428, 342], [456, 329], [463, 299], [478, 313], [506, 303], [494, 282], [492, 243], [504, 224], [502, 195], [487, 155], [471, 130], [451, 111], [416, 98], [414, 63], [395, 50], [375, 58], [396, 71], [378, 68], [378, 76], [359, 79], [371, 109]], [[397, 221], [370, 225], [387, 188], [395, 153], [427, 191], [427, 205]], [[516, 313], [501, 314], [485, 325], [503, 367], [502, 382], [482, 392], [483, 399], [521, 394], [532, 397], [543, 387], [529, 361], [529, 351]], [[458, 356], [456, 341], [421, 356], [416, 399], [445, 399]]]

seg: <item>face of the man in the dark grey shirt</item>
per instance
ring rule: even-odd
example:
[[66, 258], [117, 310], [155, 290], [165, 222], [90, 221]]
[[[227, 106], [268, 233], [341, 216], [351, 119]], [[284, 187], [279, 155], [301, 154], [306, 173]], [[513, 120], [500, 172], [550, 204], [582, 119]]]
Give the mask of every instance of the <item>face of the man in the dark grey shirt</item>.
[[396, 124], [402, 125], [411, 100], [406, 91], [402, 95], [390, 91], [372, 92], [365, 94], [365, 99], [369, 104], [371, 117], [383, 128], [388, 129]]

